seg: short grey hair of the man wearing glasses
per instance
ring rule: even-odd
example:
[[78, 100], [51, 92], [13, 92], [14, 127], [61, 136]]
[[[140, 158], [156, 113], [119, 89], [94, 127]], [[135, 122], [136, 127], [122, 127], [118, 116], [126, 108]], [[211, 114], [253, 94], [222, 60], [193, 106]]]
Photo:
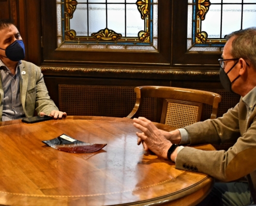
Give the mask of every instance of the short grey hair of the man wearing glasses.
[[225, 36], [225, 39], [229, 40], [231, 37], [235, 37], [231, 55], [234, 58], [249, 60], [256, 70], [256, 27], [234, 31]]

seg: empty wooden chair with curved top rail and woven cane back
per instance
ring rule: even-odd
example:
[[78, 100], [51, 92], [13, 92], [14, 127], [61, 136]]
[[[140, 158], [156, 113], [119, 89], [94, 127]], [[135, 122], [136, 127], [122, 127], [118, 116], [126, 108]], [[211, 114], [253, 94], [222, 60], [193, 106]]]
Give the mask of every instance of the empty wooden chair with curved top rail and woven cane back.
[[216, 118], [221, 96], [217, 93], [174, 87], [143, 86], [134, 88], [136, 102], [127, 118], [138, 117], [143, 98], [161, 98], [162, 112], [160, 123], [176, 128], [199, 122], [203, 104], [212, 106], [211, 119]]

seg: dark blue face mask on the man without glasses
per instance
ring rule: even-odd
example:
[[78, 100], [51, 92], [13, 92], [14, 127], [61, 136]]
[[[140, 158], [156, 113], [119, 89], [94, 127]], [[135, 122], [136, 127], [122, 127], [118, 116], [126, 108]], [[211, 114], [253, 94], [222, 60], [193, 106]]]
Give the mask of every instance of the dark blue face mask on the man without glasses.
[[25, 58], [25, 46], [22, 40], [16, 40], [7, 46], [6, 49], [0, 49], [5, 50], [6, 58], [10, 59], [11, 61], [20, 61]]

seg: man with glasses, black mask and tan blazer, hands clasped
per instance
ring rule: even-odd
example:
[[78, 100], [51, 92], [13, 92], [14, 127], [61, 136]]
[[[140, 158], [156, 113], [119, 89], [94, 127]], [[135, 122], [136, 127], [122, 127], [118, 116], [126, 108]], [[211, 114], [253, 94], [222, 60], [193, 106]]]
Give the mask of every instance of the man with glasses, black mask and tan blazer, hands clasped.
[[[137, 132], [138, 144], [146, 150], [175, 162], [177, 169], [199, 171], [223, 181], [215, 183], [199, 205], [256, 203], [256, 28], [235, 31], [227, 40], [219, 59], [220, 80], [225, 89], [241, 95], [239, 104], [222, 117], [172, 132], [158, 130], [144, 117], [133, 119], [133, 125], [142, 131]], [[236, 141], [228, 151], [180, 146], [228, 140]], [[248, 182], [235, 181], [244, 176]]]

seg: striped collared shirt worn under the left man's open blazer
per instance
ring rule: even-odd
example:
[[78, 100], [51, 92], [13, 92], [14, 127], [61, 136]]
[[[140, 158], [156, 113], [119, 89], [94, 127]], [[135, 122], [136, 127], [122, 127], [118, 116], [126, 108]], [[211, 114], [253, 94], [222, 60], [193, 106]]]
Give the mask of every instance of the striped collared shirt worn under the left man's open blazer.
[[0, 75], [4, 90], [2, 121], [25, 117], [20, 97], [20, 64], [21, 61], [18, 62], [16, 72], [13, 75], [4, 62], [0, 60]]

